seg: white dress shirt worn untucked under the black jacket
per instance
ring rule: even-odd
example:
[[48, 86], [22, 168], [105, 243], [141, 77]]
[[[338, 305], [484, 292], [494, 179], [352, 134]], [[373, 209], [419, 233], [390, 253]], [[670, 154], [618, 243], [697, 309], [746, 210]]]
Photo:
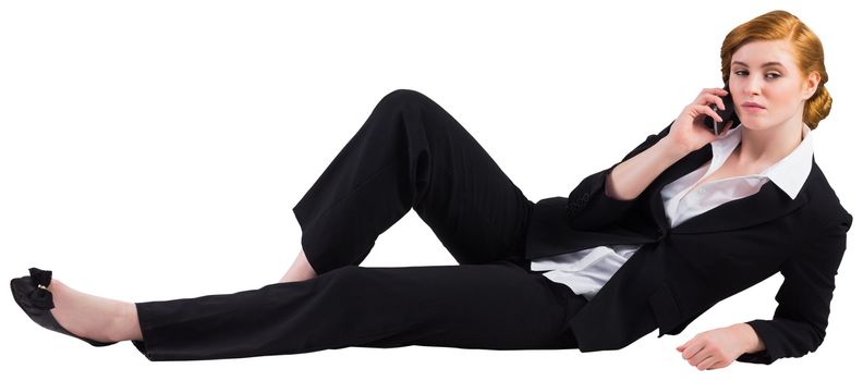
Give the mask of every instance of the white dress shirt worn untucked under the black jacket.
[[[742, 131], [741, 124], [738, 124], [710, 142], [713, 159], [709, 165], [705, 163], [663, 187], [663, 204], [671, 229], [724, 202], [754, 195], [768, 181], [773, 181], [790, 198], [797, 197], [812, 169], [812, 130], [805, 124], [800, 145], [762, 173], [712, 181], [691, 192], [702, 179], [722, 167], [740, 144]], [[640, 247], [607, 245], [554, 255], [531, 261], [531, 270], [545, 271], [543, 275], [546, 278], [566, 284], [572, 292], [589, 300]]]

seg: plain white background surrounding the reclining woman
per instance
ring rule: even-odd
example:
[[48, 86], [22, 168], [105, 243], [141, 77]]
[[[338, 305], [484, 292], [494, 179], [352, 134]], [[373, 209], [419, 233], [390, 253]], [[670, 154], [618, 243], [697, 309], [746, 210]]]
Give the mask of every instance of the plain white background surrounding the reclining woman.
[[[816, 161], [863, 213], [860, 24], [812, 1], [3, 1], [0, 8], [0, 261], [133, 302], [276, 282], [300, 249], [291, 208], [397, 88], [441, 105], [533, 201], [567, 196], [721, 87], [719, 48], [775, 9], [821, 37], [835, 102]], [[704, 378], [852, 377], [859, 361], [860, 228], [851, 230], [816, 353]], [[415, 212], [363, 266], [455, 265]], [[691, 379], [674, 347], [769, 319], [777, 274], [677, 336], [613, 352], [351, 347], [234, 360], [149, 362], [95, 348], [0, 303], [0, 378]], [[9, 295], [9, 294], [7, 294]], [[655, 376], [654, 376], [655, 374]], [[33, 378], [31, 376], [29, 378]]]

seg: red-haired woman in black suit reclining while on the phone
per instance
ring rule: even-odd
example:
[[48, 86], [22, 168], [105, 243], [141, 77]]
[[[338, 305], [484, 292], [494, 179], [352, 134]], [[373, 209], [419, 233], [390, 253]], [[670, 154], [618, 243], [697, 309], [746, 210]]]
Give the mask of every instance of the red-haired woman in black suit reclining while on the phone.
[[[774, 320], [695, 335], [698, 369], [770, 364], [825, 335], [849, 214], [812, 153], [830, 97], [817, 37], [775, 11], [734, 28], [722, 79], [569, 198], [536, 204], [440, 106], [384, 97], [293, 211], [302, 249], [280, 282], [230, 295], [125, 303], [31, 269], [15, 300], [40, 325], [151, 360], [345, 346], [620, 348], [677, 334], [717, 302], [780, 271]], [[769, 64], [768, 64], [769, 63]], [[724, 123], [719, 135], [706, 116]], [[460, 266], [365, 268], [413, 208]]]

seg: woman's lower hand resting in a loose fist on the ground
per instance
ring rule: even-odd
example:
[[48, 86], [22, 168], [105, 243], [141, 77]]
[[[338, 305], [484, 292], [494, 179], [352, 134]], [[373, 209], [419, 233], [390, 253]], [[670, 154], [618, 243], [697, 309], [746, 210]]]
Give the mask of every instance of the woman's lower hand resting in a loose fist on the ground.
[[745, 333], [737, 325], [696, 334], [677, 349], [690, 365], [705, 369], [725, 368], [746, 353]]

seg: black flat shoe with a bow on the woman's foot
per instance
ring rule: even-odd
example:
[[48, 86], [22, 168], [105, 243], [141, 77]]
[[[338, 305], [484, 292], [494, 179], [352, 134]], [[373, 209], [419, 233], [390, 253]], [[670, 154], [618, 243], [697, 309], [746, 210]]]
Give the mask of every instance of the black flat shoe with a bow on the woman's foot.
[[117, 343], [97, 342], [66, 331], [51, 315], [53, 295], [48, 291], [48, 285], [51, 283], [51, 271], [31, 268], [29, 272], [29, 276], [15, 278], [10, 282], [10, 285], [12, 286], [12, 296], [15, 298], [15, 303], [21, 306], [21, 309], [33, 321], [51, 331], [81, 339], [93, 346], [106, 346]]

